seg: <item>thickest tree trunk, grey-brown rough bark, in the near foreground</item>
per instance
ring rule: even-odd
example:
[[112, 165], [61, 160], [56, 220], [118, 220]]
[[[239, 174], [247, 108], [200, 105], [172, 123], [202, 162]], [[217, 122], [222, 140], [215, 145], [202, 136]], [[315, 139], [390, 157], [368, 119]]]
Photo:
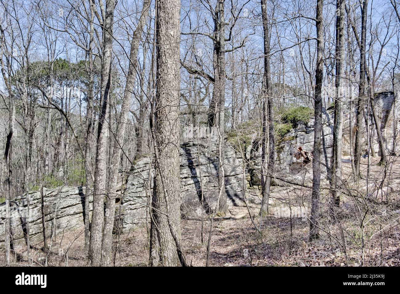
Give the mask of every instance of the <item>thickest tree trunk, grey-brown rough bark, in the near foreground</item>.
[[[157, 74], [154, 121], [156, 168], [151, 207], [150, 265], [177, 266], [180, 248], [180, 1], [156, 1]], [[152, 112], [153, 112], [152, 111]]]

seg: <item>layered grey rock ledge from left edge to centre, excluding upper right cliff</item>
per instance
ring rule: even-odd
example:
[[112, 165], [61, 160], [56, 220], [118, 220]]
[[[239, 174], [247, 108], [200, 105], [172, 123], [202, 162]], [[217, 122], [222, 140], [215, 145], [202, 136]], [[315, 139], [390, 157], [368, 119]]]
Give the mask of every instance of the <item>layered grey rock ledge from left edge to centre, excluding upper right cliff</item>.
[[[218, 200], [218, 147], [209, 142], [191, 141], [180, 148], [180, 177], [182, 217], [199, 218], [214, 211]], [[243, 167], [241, 158], [231, 147], [226, 147], [225, 192], [228, 206], [243, 202]], [[132, 230], [146, 223], [148, 197], [152, 189], [152, 162], [144, 158], [135, 164], [120, 189], [117, 204], [116, 228]], [[84, 230], [85, 193], [82, 187], [63, 186], [44, 189], [44, 212], [48, 236], [62, 234], [64, 230]], [[117, 191], [118, 192], [118, 191]], [[42, 240], [41, 193], [30, 197], [30, 236], [32, 241]], [[147, 214], [148, 215], [148, 214]], [[15, 244], [24, 243], [24, 230], [28, 217], [26, 195], [12, 201], [11, 223]], [[148, 216], [147, 216], [148, 217]], [[5, 205], [0, 205], [0, 242], [4, 242]]]

